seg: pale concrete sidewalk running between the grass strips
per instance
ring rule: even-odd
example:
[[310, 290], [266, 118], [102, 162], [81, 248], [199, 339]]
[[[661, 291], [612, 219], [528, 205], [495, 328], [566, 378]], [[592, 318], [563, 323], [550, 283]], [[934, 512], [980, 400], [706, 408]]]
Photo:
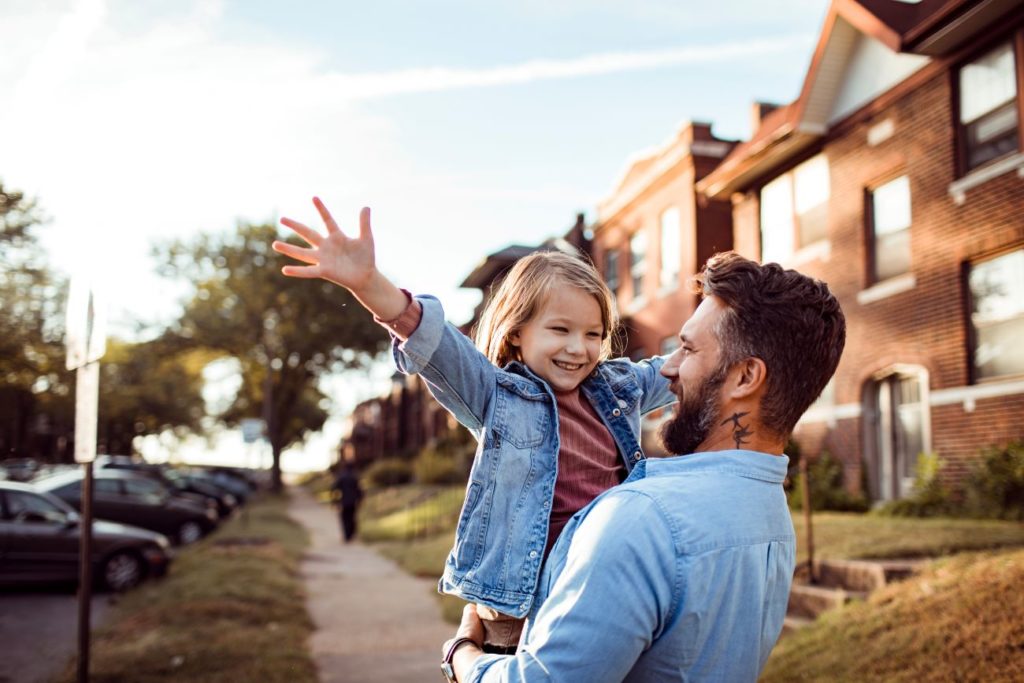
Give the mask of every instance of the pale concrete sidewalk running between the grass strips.
[[436, 584], [415, 579], [360, 543], [340, 542], [337, 513], [301, 486], [289, 488], [289, 514], [306, 527], [302, 561], [306, 608], [316, 632], [310, 649], [323, 683], [421, 683], [442, 678], [441, 644], [455, 626], [441, 621]]

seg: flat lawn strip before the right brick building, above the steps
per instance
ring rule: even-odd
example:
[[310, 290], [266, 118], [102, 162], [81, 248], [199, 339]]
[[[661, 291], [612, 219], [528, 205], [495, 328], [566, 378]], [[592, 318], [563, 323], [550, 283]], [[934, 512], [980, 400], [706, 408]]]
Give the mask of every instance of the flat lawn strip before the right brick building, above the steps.
[[[830, 559], [940, 557], [1024, 546], [1024, 524], [981, 519], [912, 519], [816, 512], [814, 556]], [[797, 560], [807, 559], [804, 517], [794, 513]]]

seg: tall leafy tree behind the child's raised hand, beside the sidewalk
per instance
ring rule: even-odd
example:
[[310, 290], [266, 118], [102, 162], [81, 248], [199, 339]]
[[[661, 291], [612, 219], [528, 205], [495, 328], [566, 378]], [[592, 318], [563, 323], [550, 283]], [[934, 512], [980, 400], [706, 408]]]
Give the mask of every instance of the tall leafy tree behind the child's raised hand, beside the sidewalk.
[[265, 420], [275, 487], [281, 453], [327, 420], [321, 377], [365, 366], [387, 342], [345, 290], [283, 276], [289, 261], [270, 249], [278, 238], [273, 225], [240, 224], [231, 234], [156, 250], [162, 274], [196, 288], [171, 334], [182, 347], [238, 361], [241, 388], [220, 419], [229, 426], [243, 418]]

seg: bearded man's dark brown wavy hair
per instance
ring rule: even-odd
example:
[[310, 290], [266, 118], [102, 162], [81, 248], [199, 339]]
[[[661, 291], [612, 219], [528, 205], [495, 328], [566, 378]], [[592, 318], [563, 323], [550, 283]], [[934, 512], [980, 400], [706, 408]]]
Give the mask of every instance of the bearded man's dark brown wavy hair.
[[715, 335], [721, 361], [761, 358], [768, 370], [761, 422], [782, 438], [821, 394], [846, 344], [846, 318], [821, 281], [735, 252], [716, 254], [693, 290], [727, 307]]

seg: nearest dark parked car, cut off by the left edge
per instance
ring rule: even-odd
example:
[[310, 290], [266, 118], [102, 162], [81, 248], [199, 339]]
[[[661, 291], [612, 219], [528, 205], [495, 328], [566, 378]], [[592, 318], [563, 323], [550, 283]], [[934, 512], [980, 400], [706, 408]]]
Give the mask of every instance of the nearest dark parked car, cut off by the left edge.
[[[81, 531], [78, 512], [59, 498], [0, 481], [0, 582], [78, 581]], [[112, 591], [133, 588], [167, 572], [170, 546], [160, 533], [93, 520], [93, 577]]]

